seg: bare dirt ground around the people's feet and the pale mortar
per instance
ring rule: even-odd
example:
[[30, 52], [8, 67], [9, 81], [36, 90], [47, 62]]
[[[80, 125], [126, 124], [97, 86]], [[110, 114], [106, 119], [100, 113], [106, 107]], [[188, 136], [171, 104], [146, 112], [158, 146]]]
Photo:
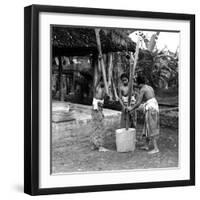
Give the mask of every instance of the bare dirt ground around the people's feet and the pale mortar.
[[91, 150], [90, 124], [81, 129], [68, 130], [67, 134], [64, 131], [60, 132], [59, 138], [52, 138], [52, 173], [178, 167], [178, 130], [161, 128], [158, 140], [160, 152], [149, 155], [139, 149], [142, 125], [137, 126], [138, 142], [135, 151], [116, 152], [117, 128], [116, 125], [107, 130], [105, 147], [111, 150], [109, 152]]

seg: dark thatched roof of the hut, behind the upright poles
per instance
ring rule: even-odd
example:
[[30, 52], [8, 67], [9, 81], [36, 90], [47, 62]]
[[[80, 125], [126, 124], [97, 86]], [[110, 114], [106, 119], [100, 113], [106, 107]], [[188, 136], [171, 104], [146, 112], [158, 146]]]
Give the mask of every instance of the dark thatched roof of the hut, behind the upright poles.
[[[131, 30], [101, 29], [102, 52], [135, 51], [135, 43], [128, 37]], [[52, 53], [56, 55], [79, 56], [97, 53], [94, 28], [52, 27]]]

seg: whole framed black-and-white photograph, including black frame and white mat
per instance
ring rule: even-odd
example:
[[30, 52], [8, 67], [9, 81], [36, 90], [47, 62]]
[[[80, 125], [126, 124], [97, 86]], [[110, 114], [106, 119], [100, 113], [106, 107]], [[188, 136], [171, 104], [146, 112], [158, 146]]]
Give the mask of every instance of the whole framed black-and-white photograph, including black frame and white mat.
[[25, 11], [25, 192], [194, 185], [194, 16]]

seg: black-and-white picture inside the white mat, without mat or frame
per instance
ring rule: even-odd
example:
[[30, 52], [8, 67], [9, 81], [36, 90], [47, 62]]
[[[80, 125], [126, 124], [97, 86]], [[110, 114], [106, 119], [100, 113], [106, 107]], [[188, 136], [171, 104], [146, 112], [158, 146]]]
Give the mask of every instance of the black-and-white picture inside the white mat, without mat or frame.
[[180, 32], [50, 34], [51, 173], [178, 168]]

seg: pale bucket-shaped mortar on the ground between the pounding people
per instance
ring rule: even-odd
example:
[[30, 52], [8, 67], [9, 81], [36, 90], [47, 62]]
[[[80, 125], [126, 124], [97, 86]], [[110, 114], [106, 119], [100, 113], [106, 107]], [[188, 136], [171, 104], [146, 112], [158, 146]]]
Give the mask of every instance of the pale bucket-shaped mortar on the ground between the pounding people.
[[136, 143], [136, 130], [134, 128], [117, 129], [116, 134], [116, 147], [117, 152], [130, 152], [135, 150]]

